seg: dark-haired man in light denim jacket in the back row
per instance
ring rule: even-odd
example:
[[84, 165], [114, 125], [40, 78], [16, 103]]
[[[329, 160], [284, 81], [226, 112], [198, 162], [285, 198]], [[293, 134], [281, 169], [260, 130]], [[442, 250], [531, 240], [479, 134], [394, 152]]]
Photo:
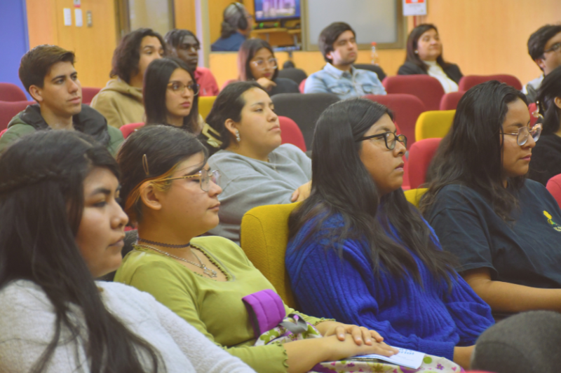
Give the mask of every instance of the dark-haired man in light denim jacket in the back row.
[[321, 31], [318, 44], [327, 64], [308, 77], [304, 93], [333, 93], [341, 99], [386, 94], [376, 73], [353, 67], [358, 55], [355, 36], [344, 22], [334, 22]]

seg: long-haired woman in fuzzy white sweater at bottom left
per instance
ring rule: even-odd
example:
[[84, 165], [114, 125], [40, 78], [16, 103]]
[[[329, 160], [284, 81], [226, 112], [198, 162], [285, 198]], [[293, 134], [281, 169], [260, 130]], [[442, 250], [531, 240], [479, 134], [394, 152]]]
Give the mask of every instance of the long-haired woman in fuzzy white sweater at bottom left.
[[0, 159], [0, 372], [253, 372], [154, 297], [94, 278], [121, 263], [118, 168], [78, 132]]

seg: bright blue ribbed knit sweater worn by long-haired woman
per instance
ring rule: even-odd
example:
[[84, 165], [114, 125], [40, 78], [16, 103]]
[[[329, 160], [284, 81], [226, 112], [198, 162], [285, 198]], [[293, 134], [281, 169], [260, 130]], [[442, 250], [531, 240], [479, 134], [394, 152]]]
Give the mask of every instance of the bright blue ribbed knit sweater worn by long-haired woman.
[[[341, 224], [341, 216], [331, 216], [320, 231]], [[345, 241], [340, 258], [334, 249], [325, 250], [320, 233], [302, 242], [313, 225], [315, 220], [310, 220], [302, 227], [288, 243], [285, 257], [292, 291], [305, 314], [365, 326], [379, 332], [391, 346], [449, 360], [454, 357], [454, 346], [475, 344], [494, 324], [489, 306], [461, 276], [452, 278], [450, 291], [412, 251], [423, 286], [411, 276], [400, 278], [383, 270], [374, 276], [365, 243]]]

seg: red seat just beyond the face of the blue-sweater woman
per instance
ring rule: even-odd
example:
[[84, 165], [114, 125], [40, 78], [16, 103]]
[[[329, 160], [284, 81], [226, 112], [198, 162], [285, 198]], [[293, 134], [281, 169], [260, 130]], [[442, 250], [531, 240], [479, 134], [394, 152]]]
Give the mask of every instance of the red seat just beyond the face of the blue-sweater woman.
[[398, 123], [401, 133], [407, 137], [407, 149], [415, 142], [415, 123], [422, 112], [426, 111], [423, 102], [412, 94], [367, 94], [365, 99], [378, 102], [390, 108], [395, 115], [394, 121]]

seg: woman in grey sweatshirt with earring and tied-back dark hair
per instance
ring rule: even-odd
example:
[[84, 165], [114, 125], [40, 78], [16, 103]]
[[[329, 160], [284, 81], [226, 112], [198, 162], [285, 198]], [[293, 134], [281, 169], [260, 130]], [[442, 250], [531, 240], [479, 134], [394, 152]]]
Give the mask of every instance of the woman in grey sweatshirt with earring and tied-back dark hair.
[[222, 174], [220, 223], [211, 234], [238, 243], [243, 214], [263, 204], [288, 204], [309, 194], [311, 162], [296, 146], [280, 144], [273, 101], [256, 82], [231, 83], [218, 94], [201, 139], [208, 163]]

